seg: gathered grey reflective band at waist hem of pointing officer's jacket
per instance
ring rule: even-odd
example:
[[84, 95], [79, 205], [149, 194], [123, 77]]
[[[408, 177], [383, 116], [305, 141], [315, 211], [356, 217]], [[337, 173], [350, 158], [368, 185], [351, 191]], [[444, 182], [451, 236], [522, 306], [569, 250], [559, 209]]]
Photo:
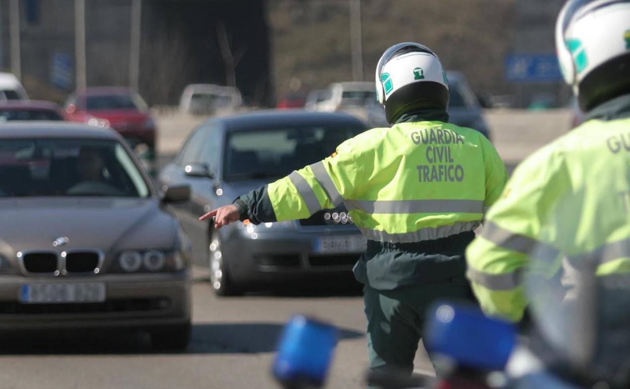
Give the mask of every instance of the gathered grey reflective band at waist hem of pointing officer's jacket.
[[459, 234], [466, 231], [474, 231], [481, 224], [480, 221], [462, 221], [449, 226], [420, 228], [417, 231], [399, 234], [390, 234], [386, 231], [378, 231], [370, 228], [359, 228], [361, 233], [369, 240], [391, 243], [413, 243], [421, 240], [434, 240]]

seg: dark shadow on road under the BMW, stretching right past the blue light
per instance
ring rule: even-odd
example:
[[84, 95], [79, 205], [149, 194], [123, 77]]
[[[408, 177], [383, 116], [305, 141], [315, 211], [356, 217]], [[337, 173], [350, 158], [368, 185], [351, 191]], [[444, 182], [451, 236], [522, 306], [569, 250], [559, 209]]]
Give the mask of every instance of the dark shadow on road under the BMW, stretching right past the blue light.
[[[173, 354], [255, 354], [275, 351], [283, 325], [280, 323], [199, 323], [193, 325], [192, 341], [185, 352]], [[340, 328], [339, 339], [363, 334]], [[0, 336], [3, 355], [171, 354], [151, 346], [144, 332], [45, 331]]]

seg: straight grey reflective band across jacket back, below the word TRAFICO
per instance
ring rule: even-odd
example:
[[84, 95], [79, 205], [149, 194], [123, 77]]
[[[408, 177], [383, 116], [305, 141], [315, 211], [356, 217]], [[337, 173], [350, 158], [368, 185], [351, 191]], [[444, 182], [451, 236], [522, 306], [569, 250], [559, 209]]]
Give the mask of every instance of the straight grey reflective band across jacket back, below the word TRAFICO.
[[483, 213], [483, 200], [347, 200], [348, 211], [369, 214]]

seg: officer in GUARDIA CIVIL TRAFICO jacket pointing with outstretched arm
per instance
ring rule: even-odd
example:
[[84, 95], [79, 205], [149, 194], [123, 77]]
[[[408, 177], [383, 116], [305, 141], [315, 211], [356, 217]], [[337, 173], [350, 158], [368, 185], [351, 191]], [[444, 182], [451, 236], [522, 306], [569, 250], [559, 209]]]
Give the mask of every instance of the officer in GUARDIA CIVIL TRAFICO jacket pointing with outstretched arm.
[[336, 152], [200, 219], [215, 228], [308, 218], [345, 204], [367, 238], [353, 271], [364, 284], [372, 368], [411, 374], [427, 305], [472, 298], [464, 250], [507, 181], [490, 141], [447, 123], [449, 84], [432, 50], [397, 44], [376, 69], [390, 128], [348, 139]]

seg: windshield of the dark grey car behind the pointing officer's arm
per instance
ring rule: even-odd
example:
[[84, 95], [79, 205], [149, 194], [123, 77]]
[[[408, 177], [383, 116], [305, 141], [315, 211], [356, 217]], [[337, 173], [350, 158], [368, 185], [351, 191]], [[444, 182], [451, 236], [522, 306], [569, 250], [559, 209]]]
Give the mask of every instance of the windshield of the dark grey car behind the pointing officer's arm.
[[326, 158], [364, 128], [356, 125], [257, 129], [229, 134], [224, 179], [279, 178]]

